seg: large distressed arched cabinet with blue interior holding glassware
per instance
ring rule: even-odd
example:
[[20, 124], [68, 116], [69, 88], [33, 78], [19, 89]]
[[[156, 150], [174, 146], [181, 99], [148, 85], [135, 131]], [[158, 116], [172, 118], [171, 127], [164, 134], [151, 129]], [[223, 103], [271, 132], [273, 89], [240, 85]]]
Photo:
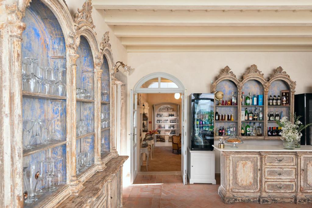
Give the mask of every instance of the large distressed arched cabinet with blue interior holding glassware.
[[[115, 148], [117, 69], [109, 33], [96, 39], [91, 0], [74, 21], [62, 0], [11, 0], [0, 7], [0, 207], [122, 206], [128, 157]], [[28, 87], [28, 76], [37, 90]], [[55, 87], [44, 91], [46, 83]], [[90, 163], [78, 157], [86, 152]], [[51, 160], [59, 162], [44, 170], [62, 176], [56, 189], [24, 203], [31, 190], [25, 172]]]

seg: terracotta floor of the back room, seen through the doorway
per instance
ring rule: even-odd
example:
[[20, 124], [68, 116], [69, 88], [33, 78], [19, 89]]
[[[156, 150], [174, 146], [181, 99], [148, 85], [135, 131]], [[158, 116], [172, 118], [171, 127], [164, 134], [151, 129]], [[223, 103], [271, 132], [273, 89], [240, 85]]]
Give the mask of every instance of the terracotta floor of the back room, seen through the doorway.
[[[181, 154], [177, 154], [177, 151], [172, 153], [172, 147], [155, 147], [147, 168], [149, 172], [181, 171]], [[143, 161], [141, 171], [146, 172], [146, 160]]]

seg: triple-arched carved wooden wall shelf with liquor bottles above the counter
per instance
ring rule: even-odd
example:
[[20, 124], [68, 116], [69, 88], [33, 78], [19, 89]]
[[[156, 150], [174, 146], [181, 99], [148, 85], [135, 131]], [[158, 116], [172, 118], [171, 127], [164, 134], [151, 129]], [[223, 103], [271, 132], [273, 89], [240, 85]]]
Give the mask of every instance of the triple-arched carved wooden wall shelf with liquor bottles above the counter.
[[[282, 67], [276, 68], [265, 80], [257, 66], [251, 65], [239, 80], [226, 66], [211, 85], [212, 93], [223, 93], [221, 105], [217, 105], [219, 102], [215, 100], [218, 115], [214, 119], [214, 138], [238, 136], [242, 139], [279, 139], [281, 129], [276, 120], [283, 116], [292, 119], [295, 86], [296, 82]], [[274, 135], [271, 135], [273, 130]]]

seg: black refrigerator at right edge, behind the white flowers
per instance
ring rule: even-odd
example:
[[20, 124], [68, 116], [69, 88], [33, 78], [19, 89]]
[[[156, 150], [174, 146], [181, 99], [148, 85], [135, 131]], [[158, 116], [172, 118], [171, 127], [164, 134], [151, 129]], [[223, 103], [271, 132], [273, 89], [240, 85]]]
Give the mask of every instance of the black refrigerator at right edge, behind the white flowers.
[[[306, 125], [312, 123], [312, 93], [295, 94], [295, 113], [302, 116], [299, 120]], [[311, 145], [312, 126], [305, 128], [302, 132], [301, 145]]]

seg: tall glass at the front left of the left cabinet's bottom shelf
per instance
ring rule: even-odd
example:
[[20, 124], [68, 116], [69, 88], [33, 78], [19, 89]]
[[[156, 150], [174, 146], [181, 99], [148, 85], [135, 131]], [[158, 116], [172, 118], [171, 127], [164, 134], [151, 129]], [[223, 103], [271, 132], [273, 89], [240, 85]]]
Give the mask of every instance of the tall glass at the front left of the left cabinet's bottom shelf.
[[36, 187], [38, 182], [38, 166], [36, 163], [32, 163], [29, 166], [29, 170], [26, 171], [26, 177], [24, 177], [24, 180], [27, 184], [27, 199], [25, 200], [25, 203], [30, 204], [38, 200], [36, 197]]

